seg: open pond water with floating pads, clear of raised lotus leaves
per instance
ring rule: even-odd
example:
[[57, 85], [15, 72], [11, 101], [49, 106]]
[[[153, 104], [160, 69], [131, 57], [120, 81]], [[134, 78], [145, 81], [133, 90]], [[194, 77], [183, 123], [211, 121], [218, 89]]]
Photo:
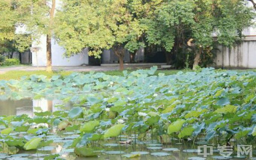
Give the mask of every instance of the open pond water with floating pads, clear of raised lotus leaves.
[[[6, 115], [22, 115], [27, 114], [29, 117], [35, 116], [35, 112], [40, 111], [58, 111], [58, 110], [70, 110], [74, 104], [72, 102], [64, 103], [61, 100], [53, 99], [31, 99], [24, 98], [18, 101], [5, 100], [0, 101], [0, 116]], [[11, 136], [26, 136], [24, 132], [12, 133]], [[138, 135], [137, 135], [138, 136]], [[197, 154], [197, 146], [192, 145], [192, 142], [181, 143], [178, 139], [172, 139], [169, 145], [160, 144], [157, 140], [145, 140], [143, 142], [134, 139], [134, 135], [131, 136], [120, 136], [117, 139], [108, 139], [104, 142], [100, 142], [95, 152], [99, 152], [98, 156], [95, 157], [77, 157], [73, 151], [74, 149], [65, 149], [63, 146], [65, 143], [73, 141], [79, 137], [78, 133], [72, 131], [62, 131], [56, 134], [49, 133], [45, 140], [53, 140], [49, 146], [39, 148], [37, 151], [19, 151], [17, 149], [8, 147], [8, 153], [1, 153], [0, 160], [27, 160], [27, 159], [39, 159], [43, 160], [45, 156], [59, 154], [61, 158], [66, 160], [204, 160], [204, 159], [221, 159], [224, 158], [219, 155], [217, 149], [213, 152], [212, 157], [203, 158], [202, 155]], [[136, 137], [136, 136], [135, 136]], [[28, 137], [29, 138], [29, 137]], [[131, 143], [120, 145], [120, 141], [132, 140]], [[200, 142], [200, 141], [197, 141]], [[202, 145], [207, 144], [205, 141], [201, 141]], [[5, 148], [3, 144], [0, 146]], [[99, 147], [101, 146], [101, 147]], [[6, 148], [5, 148], [6, 149]], [[5, 150], [4, 149], [4, 150]], [[17, 154], [15, 154], [17, 153]], [[128, 156], [128, 157], [126, 157]], [[129, 158], [129, 156], [135, 156]], [[241, 158], [235, 158], [235, 154], [230, 160], [236, 160]], [[215, 158], [214, 158], [215, 157]]]

